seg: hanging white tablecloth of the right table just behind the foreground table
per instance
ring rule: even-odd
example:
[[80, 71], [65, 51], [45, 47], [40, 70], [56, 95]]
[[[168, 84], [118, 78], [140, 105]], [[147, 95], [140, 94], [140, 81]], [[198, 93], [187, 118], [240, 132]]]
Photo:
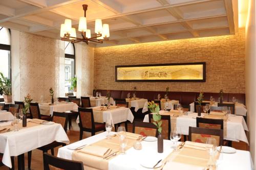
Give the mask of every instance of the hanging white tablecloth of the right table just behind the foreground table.
[[[164, 112], [164, 111], [161, 111]], [[202, 113], [204, 115], [204, 113]], [[197, 127], [196, 120], [197, 113], [189, 113], [188, 115], [182, 115], [177, 118], [176, 126], [181, 128], [183, 135], [188, 135], [188, 127]], [[143, 122], [148, 122], [148, 114], [145, 115]], [[224, 139], [232, 141], [244, 141], [248, 144], [248, 139], [245, 134], [245, 130], [248, 131], [248, 127], [245, 123], [243, 116], [229, 116], [227, 122], [227, 137]]]

